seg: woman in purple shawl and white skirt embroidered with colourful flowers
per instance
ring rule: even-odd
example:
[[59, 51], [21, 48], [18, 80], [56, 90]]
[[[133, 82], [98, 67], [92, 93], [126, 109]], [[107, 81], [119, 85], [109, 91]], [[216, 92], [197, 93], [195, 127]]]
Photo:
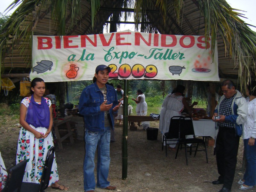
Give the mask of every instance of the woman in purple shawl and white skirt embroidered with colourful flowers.
[[[18, 140], [16, 163], [27, 159], [23, 182], [40, 183], [47, 151], [53, 146], [51, 100], [44, 98], [45, 84], [41, 78], [31, 82], [30, 97], [21, 101], [20, 136]], [[60, 185], [56, 159], [52, 164], [50, 185], [52, 188], [68, 190]]]

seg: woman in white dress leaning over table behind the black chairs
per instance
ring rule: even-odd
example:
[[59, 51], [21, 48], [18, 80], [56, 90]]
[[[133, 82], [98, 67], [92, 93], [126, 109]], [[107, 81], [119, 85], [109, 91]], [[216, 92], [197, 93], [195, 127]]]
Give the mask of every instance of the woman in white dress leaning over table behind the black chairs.
[[[169, 131], [170, 121], [173, 116], [180, 116], [184, 107], [191, 111], [197, 105], [197, 102], [194, 102], [191, 106], [188, 105], [187, 100], [182, 96], [184, 91], [185, 87], [183, 85], [177, 85], [173, 93], [168, 94], [164, 99], [159, 119], [159, 130], [162, 135]], [[169, 143], [176, 144], [177, 141], [169, 141]], [[170, 147], [170, 149], [175, 150], [175, 145], [170, 145]]]

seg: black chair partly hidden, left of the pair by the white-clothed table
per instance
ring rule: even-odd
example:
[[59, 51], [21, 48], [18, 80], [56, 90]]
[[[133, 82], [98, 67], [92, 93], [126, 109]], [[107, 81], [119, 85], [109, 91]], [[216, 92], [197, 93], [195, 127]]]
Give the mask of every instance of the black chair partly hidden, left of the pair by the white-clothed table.
[[173, 116], [170, 120], [169, 131], [164, 133], [162, 142], [162, 151], [164, 150], [165, 142], [165, 156], [167, 156], [167, 141], [178, 141], [179, 139], [179, 122], [181, 116]]

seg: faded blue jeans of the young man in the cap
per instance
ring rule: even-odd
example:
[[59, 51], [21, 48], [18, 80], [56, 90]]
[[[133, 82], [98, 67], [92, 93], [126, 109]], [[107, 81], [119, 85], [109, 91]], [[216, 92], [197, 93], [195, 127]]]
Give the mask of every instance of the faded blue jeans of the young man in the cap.
[[101, 132], [85, 131], [85, 157], [84, 157], [84, 191], [95, 189], [94, 178], [94, 157], [98, 146], [97, 160], [97, 187], [109, 186], [108, 170], [110, 163], [109, 156], [110, 127], [105, 127]]

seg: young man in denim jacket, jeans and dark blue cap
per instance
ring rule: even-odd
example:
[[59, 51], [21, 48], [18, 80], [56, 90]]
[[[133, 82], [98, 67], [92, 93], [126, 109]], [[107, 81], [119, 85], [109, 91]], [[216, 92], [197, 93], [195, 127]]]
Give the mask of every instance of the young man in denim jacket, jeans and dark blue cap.
[[110, 129], [114, 129], [114, 118], [119, 108], [114, 87], [106, 84], [110, 68], [96, 67], [93, 84], [84, 88], [79, 100], [79, 114], [84, 116], [85, 158], [84, 191], [95, 189], [94, 156], [98, 146], [97, 187], [114, 190], [108, 181], [110, 163]]

